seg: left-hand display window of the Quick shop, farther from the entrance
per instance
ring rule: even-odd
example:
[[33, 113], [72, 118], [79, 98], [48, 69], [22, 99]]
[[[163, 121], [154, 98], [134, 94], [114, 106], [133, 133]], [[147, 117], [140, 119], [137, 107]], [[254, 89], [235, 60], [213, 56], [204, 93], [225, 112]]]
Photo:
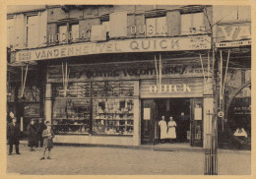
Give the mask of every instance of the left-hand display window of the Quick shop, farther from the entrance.
[[64, 96], [63, 86], [52, 87], [53, 125], [56, 134], [90, 133], [90, 83], [71, 83]]

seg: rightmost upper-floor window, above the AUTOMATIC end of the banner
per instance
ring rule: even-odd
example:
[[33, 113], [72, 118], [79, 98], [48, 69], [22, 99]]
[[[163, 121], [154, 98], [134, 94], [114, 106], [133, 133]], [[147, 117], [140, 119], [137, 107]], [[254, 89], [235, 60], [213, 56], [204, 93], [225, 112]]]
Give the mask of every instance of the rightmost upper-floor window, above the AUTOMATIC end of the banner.
[[193, 34], [202, 32], [205, 32], [203, 13], [181, 15], [181, 34]]

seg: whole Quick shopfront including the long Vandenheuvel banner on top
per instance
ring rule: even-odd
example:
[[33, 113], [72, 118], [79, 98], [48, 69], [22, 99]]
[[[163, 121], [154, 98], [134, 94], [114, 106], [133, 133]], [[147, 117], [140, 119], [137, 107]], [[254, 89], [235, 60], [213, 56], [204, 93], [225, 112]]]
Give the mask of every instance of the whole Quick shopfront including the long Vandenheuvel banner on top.
[[203, 147], [211, 123], [207, 112], [213, 111], [209, 41], [198, 35], [85, 42], [18, 51], [13, 57], [45, 65], [44, 117], [53, 125], [55, 143], [154, 144], [155, 124], [164, 113], [177, 120], [178, 141]]

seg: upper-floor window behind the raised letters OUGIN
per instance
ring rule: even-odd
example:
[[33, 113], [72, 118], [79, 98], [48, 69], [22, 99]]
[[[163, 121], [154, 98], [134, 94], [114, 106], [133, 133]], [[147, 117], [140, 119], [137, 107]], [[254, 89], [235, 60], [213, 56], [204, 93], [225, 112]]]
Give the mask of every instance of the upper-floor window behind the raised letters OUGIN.
[[147, 36], [165, 36], [167, 32], [166, 17], [146, 19]]

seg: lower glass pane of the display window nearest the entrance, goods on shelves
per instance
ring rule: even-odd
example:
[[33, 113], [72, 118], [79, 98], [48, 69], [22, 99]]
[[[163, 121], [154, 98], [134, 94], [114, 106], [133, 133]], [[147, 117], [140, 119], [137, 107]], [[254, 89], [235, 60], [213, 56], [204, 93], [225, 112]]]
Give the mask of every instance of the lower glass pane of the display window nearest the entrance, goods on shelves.
[[95, 99], [95, 134], [133, 135], [133, 99]]

